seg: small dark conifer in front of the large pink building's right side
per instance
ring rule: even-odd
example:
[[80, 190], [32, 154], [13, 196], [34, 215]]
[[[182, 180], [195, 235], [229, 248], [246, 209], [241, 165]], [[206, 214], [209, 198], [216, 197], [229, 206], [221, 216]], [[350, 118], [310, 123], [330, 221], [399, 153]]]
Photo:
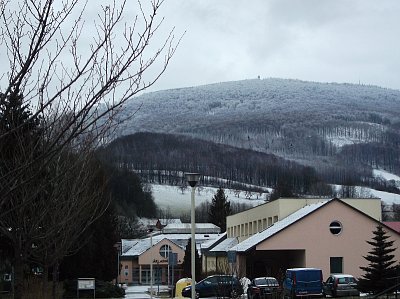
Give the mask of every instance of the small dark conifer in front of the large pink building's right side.
[[383, 230], [382, 225], [378, 225], [373, 231], [374, 237], [367, 241], [372, 246], [364, 258], [368, 261], [367, 267], [360, 267], [365, 274], [359, 279], [360, 291], [377, 294], [395, 283], [391, 278], [396, 276], [396, 263], [394, 255], [391, 254], [396, 248], [393, 242], [388, 240], [389, 236]]

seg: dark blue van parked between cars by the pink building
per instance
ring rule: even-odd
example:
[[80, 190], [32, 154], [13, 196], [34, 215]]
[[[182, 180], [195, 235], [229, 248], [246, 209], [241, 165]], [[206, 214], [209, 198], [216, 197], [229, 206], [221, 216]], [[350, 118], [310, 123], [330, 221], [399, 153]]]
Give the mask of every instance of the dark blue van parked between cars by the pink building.
[[283, 298], [323, 297], [322, 270], [318, 268], [291, 268], [283, 281]]

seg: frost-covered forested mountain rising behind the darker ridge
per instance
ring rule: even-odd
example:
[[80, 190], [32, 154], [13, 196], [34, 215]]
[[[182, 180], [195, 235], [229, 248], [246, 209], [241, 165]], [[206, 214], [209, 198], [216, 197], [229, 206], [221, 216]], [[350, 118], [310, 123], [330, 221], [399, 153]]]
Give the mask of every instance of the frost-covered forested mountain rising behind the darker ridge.
[[[138, 111], [137, 109], [140, 108]], [[143, 94], [118, 136], [200, 138], [311, 166], [325, 181], [366, 181], [371, 168], [400, 174], [400, 91], [263, 79]]]

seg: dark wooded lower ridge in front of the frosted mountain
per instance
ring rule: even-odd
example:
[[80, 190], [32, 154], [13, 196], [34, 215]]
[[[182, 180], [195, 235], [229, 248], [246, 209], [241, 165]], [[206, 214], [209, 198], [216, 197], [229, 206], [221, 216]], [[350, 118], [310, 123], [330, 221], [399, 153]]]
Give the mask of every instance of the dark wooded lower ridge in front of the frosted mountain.
[[[118, 138], [100, 154], [109, 163], [137, 172], [147, 183], [180, 186], [185, 184], [183, 172], [195, 171], [204, 175], [203, 185], [239, 189], [248, 184], [268, 186], [280, 190], [281, 196], [332, 196], [327, 183], [335, 183], [312, 167], [273, 154], [182, 135], [136, 133]], [[342, 175], [348, 183], [374, 181], [371, 173], [354, 169], [343, 169]]]

